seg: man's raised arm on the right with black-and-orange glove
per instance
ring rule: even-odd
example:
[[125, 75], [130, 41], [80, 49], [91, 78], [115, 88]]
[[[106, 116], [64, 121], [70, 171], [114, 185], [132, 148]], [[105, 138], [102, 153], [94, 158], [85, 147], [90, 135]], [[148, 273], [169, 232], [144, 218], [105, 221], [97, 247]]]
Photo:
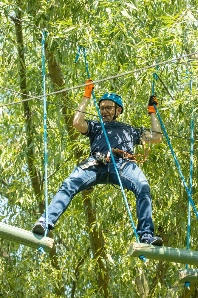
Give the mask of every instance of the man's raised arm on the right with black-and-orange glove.
[[[154, 104], [156, 107], [158, 106], [158, 102], [155, 95], [151, 95], [149, 98], [149, 104], [148, 104], [148, 110], [149, 115], [151, 117], [151, 130], [156, 131], [156, 133], [153, 132], [153, 139], [151, 140], [151, 144], [156, 144], [162, 142], [162, 134], [161, 134], [161, 127], [157, 120], [156, 111], [154, 108]], [[159, 132], [159, 133], [157, 133]], [[147, 132], [148, 139], [151, 137], [151, 134]], [[149, 144], [149, 141], [144, 136], [144, 141], [146, 144]]]

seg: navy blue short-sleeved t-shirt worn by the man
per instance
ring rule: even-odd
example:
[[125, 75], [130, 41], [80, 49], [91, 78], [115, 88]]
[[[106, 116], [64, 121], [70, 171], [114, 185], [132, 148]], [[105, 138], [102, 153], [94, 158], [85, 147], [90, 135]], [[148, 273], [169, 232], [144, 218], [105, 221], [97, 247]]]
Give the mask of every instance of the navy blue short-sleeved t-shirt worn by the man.
[[[83, 133], [89, 137], [91, 153], [107, 153], [108, 147], [99, 121], [87, 120], [88, 131]], [[140, 144], [140, 131], [138, 128], [121, 124], [119, 122], [104, 122], [104, 127], [109, 139], [111, 148], [118, 148], [129, 154], [133, 154], [134, 145]]]

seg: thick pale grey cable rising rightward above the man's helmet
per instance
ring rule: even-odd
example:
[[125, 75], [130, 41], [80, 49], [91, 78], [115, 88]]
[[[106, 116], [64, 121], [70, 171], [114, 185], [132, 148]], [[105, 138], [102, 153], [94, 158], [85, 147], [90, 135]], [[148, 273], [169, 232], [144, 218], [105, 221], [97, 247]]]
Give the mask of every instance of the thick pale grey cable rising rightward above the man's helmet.
[[[163, 64], [166, 64], [166, 63], [171, 63], [172, 61], [179, 60], [179, 59], [182, 59], [182, 58], [185, 58], [185, 57], [189, 57], [189, 56], [194, 55], [194, 54], [198, 54], [198, 52], [194, 52], [194, 53], [191, 53], [191, 54], [186, 54], [184, 56], [176, 57], [176, 58], [171, 59], [171, 60], [162, 61], [162, 62], [159, 62], [157, 64], [152, 64], [152, 65], [149, 65], [149, 66], [141, 67], [139, 69], [134, 69], [134, 70], [131, 70], [129, 72], [123, 72], [121, 74], [116, 74], [114, 76], [106, 77], [104, 79], [100, 79], [100, 80], [93, 81], [93, 82], [90, 82], [90, 83], [81, 84], [81, 85], [78, 85], [78, 86], [74, 86], [74, 87], [70, 87], [70, 88], [65, 88], [65, 89], [57, 90], [57, 91], [54, 91], [54, 92], [51, 92], [51, 93], [47, 93], [46, 96], [58, 94], [58, 93], [61, 93], [61, 92], [71, 91], [71, 90], [74, 90], [74, 89], [77, 89], [77, 88], [81, 88], [81, 87], [84, 87], [84, 86], [87, 86], [87, 85], [90, 85], [90, 84], [102, 83], [102, 82], [105, 82], [105, 81], [109, 81], [109, 80], [115, 79], [117, 77], [123, 77], [123, 76], [126, 76], [128, 74], [132, 74], [132, 73], [135, 73], [135, 72], [140, 72], [140, 71], [145, 70], [145, 69], [153, 68], [153, 67], [155, 67], [157, 65], [160, 66], [160, 65], [163, 65]], [[18, 104], [18, 103], [23, 102], [23, 101], [28, 101], [28, 100], [32, 100], [32, 99], [38, 99], [38, 98], [42, 98], [42, 97], [43, 97], [43, 95], [34, 96], [32, 98], [26, 98], [26, 99], [21, 100], [21, 101], [16, 101], [16, 102], [14, 101], [14, 102], [11, 102], [9, 104], [0, 105], [0, 107], [5, 107], [5, 106], [8, 106], [8, 105], [12, 105], [12, 104]]]

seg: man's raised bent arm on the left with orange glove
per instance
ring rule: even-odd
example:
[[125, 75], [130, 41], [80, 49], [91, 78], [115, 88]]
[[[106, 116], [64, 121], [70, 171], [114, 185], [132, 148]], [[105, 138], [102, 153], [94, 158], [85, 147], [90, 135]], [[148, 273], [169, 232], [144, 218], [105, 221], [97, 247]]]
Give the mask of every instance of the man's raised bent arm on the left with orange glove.
[[[90, 83], [92, 80], [87, 80], [86, 83]], [[92, 95], [92, 89], [94, 88], [94, 84], [90, 84], [85, 86], [85, 94], [78, 106], [78, 110], [82, 112], [86, 112], [86, 107], [89, 103], [89, 99]], [[84, 120], [85, 114], [76, 111], [74, 115], [74, 120], [73, 120], [73, 126], [78, 129], [81, 133], [87, 133], [88, 131], [88, 124], [87, 121]]]

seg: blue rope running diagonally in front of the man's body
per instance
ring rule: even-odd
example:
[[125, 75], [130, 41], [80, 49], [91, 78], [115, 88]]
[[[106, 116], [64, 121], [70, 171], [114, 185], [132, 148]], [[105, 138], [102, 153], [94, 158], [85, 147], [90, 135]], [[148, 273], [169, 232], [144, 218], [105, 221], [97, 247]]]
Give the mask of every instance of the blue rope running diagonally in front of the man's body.
[[[80, 51], [81, 47], [82, 46], [79, 46], [79, 48], [78, 48], [78, 54], [77, 54], [78, 57], [79, 57], [79, 51]], [[85, 66], [86, 66], [87, 78], [90, 79], [89, 69], [88, 69], [88, 64], [87, 64], [87, 59], [86, 59], [86, 53], [85, 53], [85, 48], [83, 48], [83, 53], [84, 53], [84, 59], [85, 59]], [[77, 60], [78, 60], [77, 58], [78, 57], [76, 57], [75, 63], [77, 62]], [[124, 188], [123, 188], [123, 185], [122, 185], [122, 182], [120, 180], [120, 176], [119, 176], [119, 173], [118, 173], [118, 170], [117, 170], [117, 166], [116, 166], [115, 159], [114, 159], [114, 156], [113, 156], [113, 153], [112, 153], [111, 145], [109, 143], [109, 139], [108, 139], [108, 136], [106, 134], [104, 123], [103, 123], [102, 117], [100, 115], [100, 111], [99, 111], [98, 104], [97, 104], [97, 101], [96, 101], [95, 94], [94, 94], [93, 90], [92, 90], [92, 96], [93, 96], [93, 99], [94, 99], [95, 107], [96, 107], [97, 112], [98, 112], [98, 116], [100, 118], [100, 122], [101, 122], [101, 125], [102, 125], [103, 133], [104, 133], [104, 136], [105, 136], [105, 139], [106, 139], [106, 142], [107, 142], [107, 146], [108, 146], [109, 152], [111, 154], [112, 162], [113, 162], [113, 165], [114, 165], [114, 168], [115, 168], [117, 179], [118, 179], [119, 184], [120, 184], [120, 188], [121, 188], [121, 191], [122, 191], [122, 194], [123, 194], [123, 198], [124, 198], [124, 201], [125, 201], [125, 204], [126, 204], [126, 208], [127, 208], [128, 213], [129, 213], [129, 218], [130, 218], [131, 223], [132, 223], [132, 227], [133, 227], [133, 230], [134, 230], [134, 233], [135, 233], [135, 238], [136, 238], [137, 242], [140, 243], [139, 238], [138, 238], [138, 235], [137, 235], [137, 231], [135, 229], [135, 225], [134, 225], [134, 222], [133, 222], [132, 214], [131, 214], [131, 211], [129, 209], [129, 204], [128, 204], [127, 199], [126, 199]], [[146, 259], [145, 258], [143, 259], [143, 258], [144, 258], [144, 256], [140, 256], [139, 257], [140, 260], [143, 260], [143, 261], [146, 262]]]

